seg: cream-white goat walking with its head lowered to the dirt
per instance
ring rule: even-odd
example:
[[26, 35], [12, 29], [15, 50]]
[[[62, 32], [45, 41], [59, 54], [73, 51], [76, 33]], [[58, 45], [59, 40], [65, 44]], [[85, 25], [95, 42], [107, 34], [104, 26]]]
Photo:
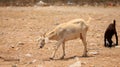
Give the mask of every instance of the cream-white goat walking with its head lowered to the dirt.
[[69, 21], [67, 23], [63, 23], [58, 25], [52, 31], [46, 33], [39, 39], [40, 48], [42, 48], [48, 40], [56, 40], [56, 48], [52, 54], [50, 59], [55, 57], [56, 51], [59, 46], [62, 44], [63, 55], [61, 59], [65, 56], [65, 42], [68, 40], [77, 39], [80, 37], [84, 44], [84, 54], [83, 56], [87, 56], [87, 42], [86, 42], [86, 34], [87, 34], [88, 26], [85, 24], [83, 19], [75, 19]]

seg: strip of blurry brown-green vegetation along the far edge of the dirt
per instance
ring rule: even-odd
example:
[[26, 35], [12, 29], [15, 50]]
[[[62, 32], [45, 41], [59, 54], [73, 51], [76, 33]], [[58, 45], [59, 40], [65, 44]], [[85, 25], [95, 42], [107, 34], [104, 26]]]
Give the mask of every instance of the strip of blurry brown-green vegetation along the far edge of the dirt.
[[[91, 6], [116, 6], [120, 0], [0, 0], [0, 6], [33, 6], [39, 1], [44, 1], [51, 5], [91, 5]], [[70, 4], [71, 3], [71, 4]]]

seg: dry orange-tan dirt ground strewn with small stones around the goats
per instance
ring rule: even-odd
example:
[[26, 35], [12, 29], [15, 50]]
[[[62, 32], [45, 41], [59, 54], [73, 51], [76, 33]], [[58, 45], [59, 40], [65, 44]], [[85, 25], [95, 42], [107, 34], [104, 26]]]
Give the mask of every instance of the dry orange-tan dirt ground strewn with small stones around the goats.
[[[63, 60], [59, 59], [61, 47], [55, 60], [49, 60], [55, 41], [39, 49], [37, 39], [42, 34], [72, 19], [87, 21], [88, 15], [92, 17], [87, 34], [89, 57], [82, 57], [80, 39], [66, 42]], [[0, 67], [120, 67], [120, 48], [103, 46], [104, 31], [113, 19], [120, 39], [120, 7], [0, 7]]]

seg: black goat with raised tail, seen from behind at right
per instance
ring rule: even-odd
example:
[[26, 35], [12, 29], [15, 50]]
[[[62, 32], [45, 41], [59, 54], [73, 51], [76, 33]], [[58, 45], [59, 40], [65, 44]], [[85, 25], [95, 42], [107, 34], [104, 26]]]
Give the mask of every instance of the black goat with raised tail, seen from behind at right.
[[114, 45], [118, 45], [118, 36], [117, 36], [117, 31], [116, 31], [116, 21], [113, 20], [113, 23], [111, 23], [108, 28], [105, 31], [104, 34], [104, 46], [105, 47], [112, 47], [113, 45], [113, 41], [112, 41], [112, 36], [115, 34], [116, 37], [116, 44]]

